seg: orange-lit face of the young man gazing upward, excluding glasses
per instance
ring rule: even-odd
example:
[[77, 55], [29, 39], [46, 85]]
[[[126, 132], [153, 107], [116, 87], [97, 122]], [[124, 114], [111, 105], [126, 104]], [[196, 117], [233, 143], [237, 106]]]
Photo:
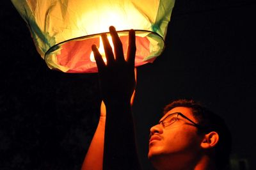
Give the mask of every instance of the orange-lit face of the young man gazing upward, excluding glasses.
[[[174, 112], [181, 112], [196, 122], [188, 107], [175, 107], [164, 114], [161, 120]], [[148, 158], [153, 162], [158, 158], [182, 162], [182, 159], [193, 157], [198, 153], [202, 141], [202, 137], [197, 134], [197, 128], [182, 116], [179, 116], [177, 121], [170, 126], [163, 127], [157, 124], [150, 128], [150, 136]]]

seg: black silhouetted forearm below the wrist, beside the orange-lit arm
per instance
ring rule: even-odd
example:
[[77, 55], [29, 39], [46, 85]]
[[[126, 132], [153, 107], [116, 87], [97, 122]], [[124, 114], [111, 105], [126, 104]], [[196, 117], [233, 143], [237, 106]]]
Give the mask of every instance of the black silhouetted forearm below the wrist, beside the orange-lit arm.
[[141, 169], [130, 101], [111, 102], [106, 110], [104, 169]]

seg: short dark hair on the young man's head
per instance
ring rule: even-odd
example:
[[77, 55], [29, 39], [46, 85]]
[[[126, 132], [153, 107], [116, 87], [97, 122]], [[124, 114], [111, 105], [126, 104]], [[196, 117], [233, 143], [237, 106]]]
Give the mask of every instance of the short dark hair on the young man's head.
[[[164, 107], [164, 114], [175, 107], [188, 107], [192, 110], [193, 116], [202, 126], [201, 132], [217, 132], [220, 136], [220, 141], [216, 144], [215, 156], [216, 166], [218, 169], [226, 169], [230, 166], [230, 153], [232, 149], [232, 136], [225, 120], [218, 114], [209, 111], [200, 102], [195, 102], [191, 99], [173, 100], [170, 104]], [[199, 130], [200, 131], [200, 130]]]

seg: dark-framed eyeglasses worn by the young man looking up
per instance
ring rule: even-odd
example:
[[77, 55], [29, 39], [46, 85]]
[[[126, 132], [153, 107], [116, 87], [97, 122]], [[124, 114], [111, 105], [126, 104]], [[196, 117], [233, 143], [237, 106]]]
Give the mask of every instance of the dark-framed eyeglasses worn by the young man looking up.
[[174, 112], [172, 114], [169, 114], [166, 116], [163, 120], [159, 121], [159, 124], [161, 124], [164, 128], [172, 125], [175, 123], [177, 120], [179, 120], [179, 116], [182, 116], [182, 118], [185, 118], [186, 120], [190, 121], [193, 123], [193, 125], [197, 128], [202, 128], [200, 125], [195, 123], [194, 121], [190, 120], [188, 117], [186, 117], [184, 114], [181, 112]]

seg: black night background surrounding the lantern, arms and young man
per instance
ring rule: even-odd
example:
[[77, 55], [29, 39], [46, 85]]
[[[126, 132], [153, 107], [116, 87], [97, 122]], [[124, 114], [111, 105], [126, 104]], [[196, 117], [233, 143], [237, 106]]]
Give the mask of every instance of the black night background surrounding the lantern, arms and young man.
[[[256, 169], [255, 9], [255, 1], [177, 0], [166, 49], [138, 67], [133, 112], [144, 169], [152, 169], [149, 128], [164, 105], [185, 97], [227, 120], [233, 169]], [[10, 1], [0, 13], [0, 169], [80, 169], [99, 119], [97, 73], [50, 70]]]

